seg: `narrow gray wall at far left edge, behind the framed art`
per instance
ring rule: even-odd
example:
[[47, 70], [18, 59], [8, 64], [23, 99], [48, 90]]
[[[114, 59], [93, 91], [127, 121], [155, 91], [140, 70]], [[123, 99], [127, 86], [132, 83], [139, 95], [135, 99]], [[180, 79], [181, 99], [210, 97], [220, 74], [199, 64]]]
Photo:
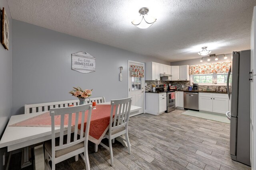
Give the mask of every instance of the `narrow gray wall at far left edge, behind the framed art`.
[[[0, 8], [4, 7], [9, 20], [9, 50], [0, 44], [0, 139], [8, 123], [12, 108], [12, 18], [7, 0], [0, 0]], [[1, 24], [0, 24], [1, 25]], [[6, 148], [0, 149], [0, 170], [4, 169], [3, 155]], [[7, 155], [7, 154], [6, 154]]]

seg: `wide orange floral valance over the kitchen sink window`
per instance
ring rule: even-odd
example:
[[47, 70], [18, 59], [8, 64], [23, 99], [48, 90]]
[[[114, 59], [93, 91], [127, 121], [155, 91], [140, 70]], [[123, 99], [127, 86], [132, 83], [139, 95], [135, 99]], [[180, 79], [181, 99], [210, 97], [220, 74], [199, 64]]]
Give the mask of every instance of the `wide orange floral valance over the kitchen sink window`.
[[228, 73], [232, 62], [199, 64], [189, 66], [189, 74]]

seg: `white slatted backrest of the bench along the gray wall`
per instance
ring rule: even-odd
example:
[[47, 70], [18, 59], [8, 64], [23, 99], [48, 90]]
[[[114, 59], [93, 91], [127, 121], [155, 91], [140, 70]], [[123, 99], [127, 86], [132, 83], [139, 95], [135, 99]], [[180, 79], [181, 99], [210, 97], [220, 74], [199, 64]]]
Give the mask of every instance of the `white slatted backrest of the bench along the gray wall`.
[[[104, 103], [104, 97], [91, 98], [91, 102]], [[89, 103], [89, 99], [86, 99], [86, 103]], [[36, 113], [40, 111], [49, 111], [50, 108], [59, 108], [59, 107], [68, 107], [68, 105], [73, 104], [74, 106], [79, 105], [79, 100], [68, 100], [62, 102], [50, 102], [50, 103], [41, 103], [41, 104], [26, 104], [25, 105], [25, 114], [27, 113]]]

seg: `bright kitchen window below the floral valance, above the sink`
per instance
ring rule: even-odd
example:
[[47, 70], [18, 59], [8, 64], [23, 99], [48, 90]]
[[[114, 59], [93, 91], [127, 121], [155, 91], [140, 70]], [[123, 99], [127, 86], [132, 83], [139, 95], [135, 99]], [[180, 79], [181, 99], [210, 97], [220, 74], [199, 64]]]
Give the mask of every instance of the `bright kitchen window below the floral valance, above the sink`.
[[[191, 83], [198, 83], [201, 85], [210, 84], [226, 84], [228, 73], [213, 73], [213, 74], [193, 74], [191, 75]], [[230, 79], [231, 81], [231, 79]]]

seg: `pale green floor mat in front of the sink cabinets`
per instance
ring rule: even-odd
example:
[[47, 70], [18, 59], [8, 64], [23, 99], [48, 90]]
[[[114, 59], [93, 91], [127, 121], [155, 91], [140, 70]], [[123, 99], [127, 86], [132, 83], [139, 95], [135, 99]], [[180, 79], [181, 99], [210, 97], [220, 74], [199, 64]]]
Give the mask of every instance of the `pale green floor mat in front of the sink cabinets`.
[[219, 121], [219, 122], [230, 124], [230, 120], [228, 120], [226, 115], [216, 115], [216, 114], [213, 114], [213, 113], [204, 113], [204, 112], [201, 112], [201, 111], [192, 111], [192, 110], [184, 111], [181, 114], [182, 115], [193, 116], [193, 117], [200, 117], [200, 118], [203, 118], [203, 119], [209, 119], [209, 120], [213, 120], [213, 121]]

